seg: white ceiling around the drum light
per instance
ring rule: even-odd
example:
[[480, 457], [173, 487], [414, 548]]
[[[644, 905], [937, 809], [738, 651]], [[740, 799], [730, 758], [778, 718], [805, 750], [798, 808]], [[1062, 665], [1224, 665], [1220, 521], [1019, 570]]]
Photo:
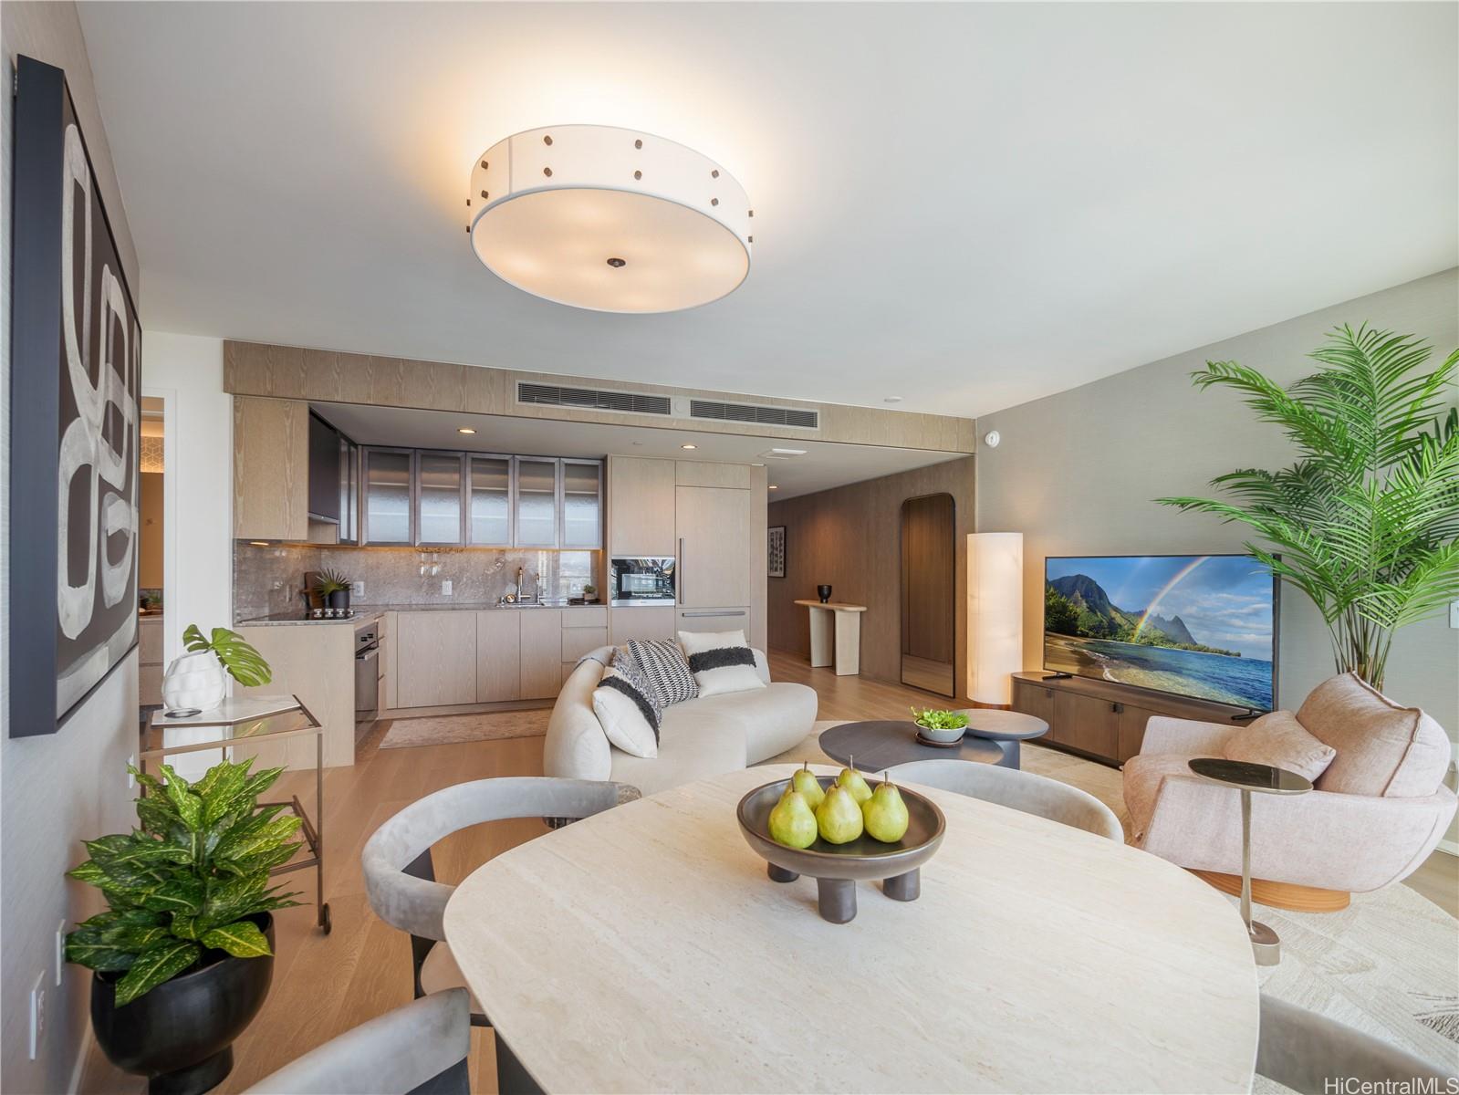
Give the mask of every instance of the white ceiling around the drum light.
[[[1453, 3], [79, 7], [158, 330], [976, 415], [1459, 261]], [[746, 285], [486, 272], [474, 156], [569, 121], [730, 168]]]

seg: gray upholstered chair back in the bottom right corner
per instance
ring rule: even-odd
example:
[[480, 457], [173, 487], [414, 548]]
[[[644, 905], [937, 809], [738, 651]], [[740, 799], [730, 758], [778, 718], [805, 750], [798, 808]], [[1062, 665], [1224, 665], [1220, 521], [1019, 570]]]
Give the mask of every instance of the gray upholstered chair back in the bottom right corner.
[[[1309, 1012], [1262, 993], [1262, 1034], [1256, 1048], [1256, 1072], [1303, 1095], [1348, 1091], [1352, 1080], [1388, 1089], [1389, 1080], [1408, 1088], [1393, 1091], [1456, 1091], [1459, 1076], [1430, 1064], [1392, 1042]], [[1351, 1079], [1350, 1079], [1351, 1077]], [[1431, 1080], [1423, 1088], [1414, 1080]], [[1355, 1091], [1357, 1088], [1351, 1088]]]

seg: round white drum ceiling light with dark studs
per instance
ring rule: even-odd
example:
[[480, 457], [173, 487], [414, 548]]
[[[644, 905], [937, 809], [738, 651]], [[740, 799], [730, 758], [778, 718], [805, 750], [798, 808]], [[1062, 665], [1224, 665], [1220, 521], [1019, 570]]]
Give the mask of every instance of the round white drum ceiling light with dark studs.
[[487, 270], [573, 308], [694, 308], [750, 273], [744, 188], [651, 133], [550, 126], [506, 137], [471, 166], [467, 206]]

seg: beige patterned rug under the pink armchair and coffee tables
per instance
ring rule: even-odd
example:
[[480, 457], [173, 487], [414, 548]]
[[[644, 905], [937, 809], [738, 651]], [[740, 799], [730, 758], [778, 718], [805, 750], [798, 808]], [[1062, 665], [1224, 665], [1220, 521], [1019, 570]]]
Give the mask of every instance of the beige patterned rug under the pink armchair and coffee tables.
[[[830, 764], [811, 734], [766, 764]], [[1023, 748], [1030, 772], [1072, 784], [1128, 825], [1116, 769], [1056, 749]], [[1231, 915], [1237, 915], [1233, 896]], [[1287, 912], [1256, 905], [1282, 940], [1282, 961], [1258, 968], [1262, 988], [1348, 1026], [1404, 1045], [1459, 1072], [1459, 921], [1404, 885], [1354, 894], [1341, 912]], [[1272, 1091], [1265, 1080], [1258, 1089]]]

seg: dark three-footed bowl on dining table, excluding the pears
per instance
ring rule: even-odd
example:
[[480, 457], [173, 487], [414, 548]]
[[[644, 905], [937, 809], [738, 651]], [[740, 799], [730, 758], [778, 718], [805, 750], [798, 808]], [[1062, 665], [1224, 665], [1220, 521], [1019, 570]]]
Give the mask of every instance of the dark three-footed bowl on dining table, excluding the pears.
[[[835, 783], [829, 775], [817, 775], [816, 780], [823, 788]], [[817, 837], [808, 848], [791, 848], [770, 837], [770, 810], [788, 783], [776, 780], [756, 787], [735, 807], [740, 832], [746, 844], [769, 863], [772, 880], [794, 882], [801, 875], [816, 879], [820, 912], [836, 924], [856, 915], [856, 882], [883, 879], [883, 892], [889, 898], [916, 901], [921, 892], [918, 870], [932, 858], [947, 829], [947, 819], [935, 802], [897, 784], [907, 807], [907, 831], [896, 844], [884, 844], [864, 832], [848, 844], [830, 844]]]

